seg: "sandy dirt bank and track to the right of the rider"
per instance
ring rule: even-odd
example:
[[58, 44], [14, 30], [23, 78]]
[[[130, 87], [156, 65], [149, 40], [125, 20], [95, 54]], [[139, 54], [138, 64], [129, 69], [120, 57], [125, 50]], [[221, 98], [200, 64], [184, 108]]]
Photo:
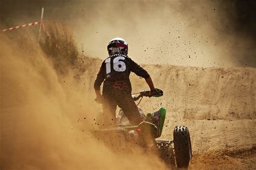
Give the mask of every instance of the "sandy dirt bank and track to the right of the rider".
[[[160, 105], [166, 108], [163, 139], [172, 139], [175, 125], [190, 129], [191, 168], [256, 167], [255, 68], [144, 68], [164, 96], [144, 98], [140, 107], [148, 112]], [[147, 89], [144, 80], [133, 73], [131, 81], [134, 93]]]

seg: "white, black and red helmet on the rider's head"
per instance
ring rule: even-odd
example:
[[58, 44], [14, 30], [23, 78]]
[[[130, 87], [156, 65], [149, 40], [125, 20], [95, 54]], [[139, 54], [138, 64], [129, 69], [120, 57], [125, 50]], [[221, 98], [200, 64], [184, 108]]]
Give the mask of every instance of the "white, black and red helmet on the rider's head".
[[107, 45], [107, 52], [110, 55], [114, 54], [128, 54], [128, 44], [123, 38], [113, 38], [109, 41], [109, 45]]

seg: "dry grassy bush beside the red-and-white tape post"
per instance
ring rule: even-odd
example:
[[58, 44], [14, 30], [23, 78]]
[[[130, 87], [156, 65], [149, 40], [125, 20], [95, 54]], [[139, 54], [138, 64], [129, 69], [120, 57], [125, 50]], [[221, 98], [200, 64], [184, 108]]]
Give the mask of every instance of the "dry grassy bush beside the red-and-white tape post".
[[40, 46], [59, 75], [65, 76], [72, 70], [79, 79], [95, 60], [78, 52], [73, 32], [63, 22], [46, 23], [42, 35]]

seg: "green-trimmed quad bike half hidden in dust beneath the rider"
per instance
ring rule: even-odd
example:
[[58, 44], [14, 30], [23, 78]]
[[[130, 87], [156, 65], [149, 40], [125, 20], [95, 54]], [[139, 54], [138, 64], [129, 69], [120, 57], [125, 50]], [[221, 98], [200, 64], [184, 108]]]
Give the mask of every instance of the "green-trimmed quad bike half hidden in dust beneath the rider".
[[[138, 94], [138, 96], [132, 95], [134, 101], [139, 99], [141, 101], [144, 96], [151, 97], [150, 91], [144, 90]], [[157, 89], [157, 94], [152, 97], [160, 96], [163, 96], [163, 91]], [[96, 137], [103, 140], [113, 151], [132, 152], [132, 148], [141, 147], [157, 154], [170, 169], [187, 168], [192, 160], [190, 133], [187, 127], [176, 126], [173, 131], [173, 140], [158, 140], [156, 138], [159, 138], [163, 131], [166, 110], [160, 107], [152, 114], [144, 114], [141, 108], [138, 107], [138, 109], [143, 118], [143, 122], [139, 125], [131, 125], [120, 109], [116, 117], [117, 126], [96, 130]], [[97, 117], [97, 122], [99, 119], [100, 115]]]

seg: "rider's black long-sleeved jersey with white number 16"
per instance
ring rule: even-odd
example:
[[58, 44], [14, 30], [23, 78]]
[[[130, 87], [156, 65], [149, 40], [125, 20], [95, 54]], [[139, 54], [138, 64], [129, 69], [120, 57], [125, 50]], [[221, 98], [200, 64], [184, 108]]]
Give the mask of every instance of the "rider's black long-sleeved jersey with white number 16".
[[147, 79], [147, 77], [150, 76], [145, 69], [140, 67], [128, 56], [123, 54], [111, 55], [103, 61], [94, 83], [94, 88], [99, 90], [100, 85], [105, 80], [103, 84], [103, 93], [104, 91], [109, 91], [111, 89], [123, 90], [126, 87], [131, 91], [131, 82], [129, 79], [131, 72], [144, 79]]

